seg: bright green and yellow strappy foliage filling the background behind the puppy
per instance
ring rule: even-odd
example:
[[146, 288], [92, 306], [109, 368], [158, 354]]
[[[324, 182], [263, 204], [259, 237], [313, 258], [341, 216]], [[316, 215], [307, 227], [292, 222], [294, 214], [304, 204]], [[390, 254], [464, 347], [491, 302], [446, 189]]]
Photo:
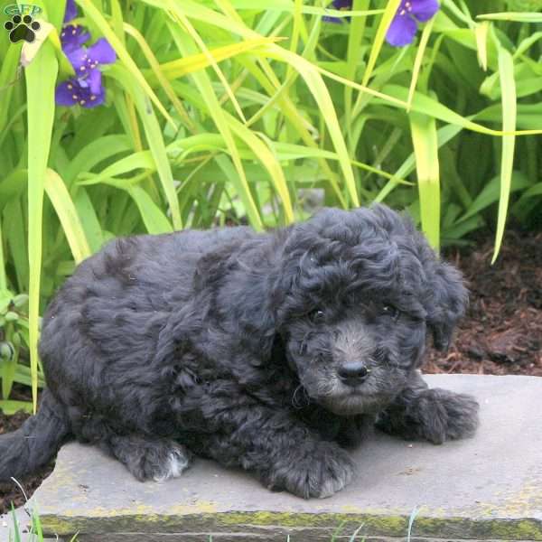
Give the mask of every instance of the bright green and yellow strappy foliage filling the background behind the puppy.
[[542, 210], [536, 1], [442, 0], [401, 49], [397, 0], [350, 18], [327, 0], [76, 2], [117, 53], [105, 106], [55, 107], [63, 2], [35, 2], [55, 30], [27, 68], [0, 34], [2, 408], [13, 382], [42, 385], [51, 294], [118, 235], [284, 225], [317, 193], [407, 208], [435, 247], [489, 223], [497, 255], [507, 216]]

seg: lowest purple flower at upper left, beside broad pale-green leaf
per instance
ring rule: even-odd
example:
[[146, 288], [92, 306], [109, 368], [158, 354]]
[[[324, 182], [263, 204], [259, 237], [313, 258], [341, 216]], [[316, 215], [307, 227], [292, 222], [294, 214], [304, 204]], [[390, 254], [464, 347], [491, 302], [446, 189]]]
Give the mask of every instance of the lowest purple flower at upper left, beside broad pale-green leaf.
[[106, 93], [102, 86], [100, 64], [117, 60], [115, 50], [105, 38], [100, 38], [88, 49], [79, 47], [65, 51], [75, 70], [76, 77], [61, 83], [56, 89], [56, 103], [60, 106], [97, 107], [103, 104]]

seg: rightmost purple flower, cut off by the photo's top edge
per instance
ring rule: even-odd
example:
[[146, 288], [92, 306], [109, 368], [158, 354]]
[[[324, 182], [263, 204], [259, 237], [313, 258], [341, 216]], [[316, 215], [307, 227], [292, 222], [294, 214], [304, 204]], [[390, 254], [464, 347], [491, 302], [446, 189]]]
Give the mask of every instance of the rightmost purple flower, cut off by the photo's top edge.
[[394, 47], [412, 43], [417, 23], [429, 21], [439, 7], [438, 0], [402, 0], [396, 16], [389, 25], [386, 41]]

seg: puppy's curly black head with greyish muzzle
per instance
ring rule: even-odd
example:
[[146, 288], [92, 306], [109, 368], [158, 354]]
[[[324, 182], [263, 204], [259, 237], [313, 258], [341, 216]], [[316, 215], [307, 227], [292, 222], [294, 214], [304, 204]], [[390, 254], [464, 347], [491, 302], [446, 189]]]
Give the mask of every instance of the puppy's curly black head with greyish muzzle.
[[421, 364], [426, 335], [447, 348], [467, 292], [410, 220], [384, 206], [322, 210], [290, 229], [276, 332], [314, 401], [378, 410]]

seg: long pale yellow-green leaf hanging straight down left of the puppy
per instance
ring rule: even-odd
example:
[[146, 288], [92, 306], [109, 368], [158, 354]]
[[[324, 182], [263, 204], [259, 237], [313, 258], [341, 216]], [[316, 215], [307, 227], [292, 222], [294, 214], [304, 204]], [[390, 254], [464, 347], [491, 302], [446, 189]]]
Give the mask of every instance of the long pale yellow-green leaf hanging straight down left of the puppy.
[[45, 42], [25, 70], [28, 103], [28, 259], [30, 365], [33, 409], [38, 394], [38, 318], [42, 270], [42, 213], [45, 172], [54, 118], [54, 85], [58, 62], [50, 42]]

